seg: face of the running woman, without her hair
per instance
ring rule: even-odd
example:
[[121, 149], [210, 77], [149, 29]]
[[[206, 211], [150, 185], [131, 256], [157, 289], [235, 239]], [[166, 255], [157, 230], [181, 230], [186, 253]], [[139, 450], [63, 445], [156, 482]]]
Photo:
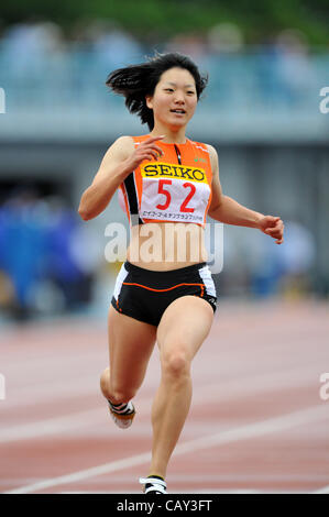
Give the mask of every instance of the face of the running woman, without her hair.
[[169, 68], [157, 82], [153, 97], [146, 97], [153, 109], [154, 122], [167, 127], [183, 127], [193, 118], [198, 102], [193, 75], [185, 68]]

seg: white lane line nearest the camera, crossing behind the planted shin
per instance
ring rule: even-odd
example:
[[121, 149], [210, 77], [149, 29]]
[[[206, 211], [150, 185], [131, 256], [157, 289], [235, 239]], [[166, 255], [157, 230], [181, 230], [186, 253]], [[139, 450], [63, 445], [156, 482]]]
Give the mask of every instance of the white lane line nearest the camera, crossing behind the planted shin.
[[[215, 435], [205, 436], [189, 440], [185, 443], [180, 443], [176, 447], [174, 455], [185, 454], [187, 452], [196, 452], [196, 450], [209, 449], [216, 446], [222, 446], [226, 443], [238, 442], [246, 440], [249, 438], [256, 438], [273, 432], [283, 431], [290, 429], [292, 427], [300, 426], [310, 421], [317, 421], [321, 419], [328, 419], [327, 408], [323, 406], [314, 406], [307, 409], [283, 415], [281, 417], [270, 418], [267, 420], [243, 426], [237, 429], [217, 432]], [[133, 455], [123, 460], [106, 463], [91, 469], [74, 472], [72, 474], [53, 477], [50, 480], [41, 481], [31, 485], [14, 488], [4, 494], [29, 494], [32, 492], [40, 492], [46, 488], [51, 488], [67, 483], [74, 483], [83, 480], [87, 480], [92, 476], [109, 474], [110, 472], [118, 472], [123, 469], [128, 469], [135, 465], [143, 465], [151, 460], [151, 453], [145, 452], [143, 454]]]

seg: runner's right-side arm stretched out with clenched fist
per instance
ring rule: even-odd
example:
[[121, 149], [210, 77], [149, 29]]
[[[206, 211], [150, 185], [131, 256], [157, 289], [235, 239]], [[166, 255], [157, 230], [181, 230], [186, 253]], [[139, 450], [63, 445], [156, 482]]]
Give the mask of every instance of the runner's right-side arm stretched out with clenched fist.
[[212, 165], [212, 199], [208, 215], [216, 221], [239, 227], [257, 228], [266, 235], [276, 239], [276, 244], [282, 244], [284, 223], [279, 217], [264, 216], [243, 207], [234, 199], [222, 194], [219, 180], [218, 156], [215, 147], [208, 145]]

